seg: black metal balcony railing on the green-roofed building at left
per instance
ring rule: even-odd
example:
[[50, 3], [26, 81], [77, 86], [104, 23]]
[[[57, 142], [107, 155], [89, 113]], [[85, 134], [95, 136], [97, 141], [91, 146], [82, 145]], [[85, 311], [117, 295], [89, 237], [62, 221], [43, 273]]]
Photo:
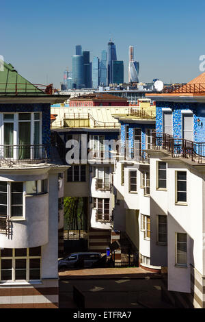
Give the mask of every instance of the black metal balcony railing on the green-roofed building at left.
[[46, 162], [48, 151], [44, 145], [0, 145], [0, 164]]

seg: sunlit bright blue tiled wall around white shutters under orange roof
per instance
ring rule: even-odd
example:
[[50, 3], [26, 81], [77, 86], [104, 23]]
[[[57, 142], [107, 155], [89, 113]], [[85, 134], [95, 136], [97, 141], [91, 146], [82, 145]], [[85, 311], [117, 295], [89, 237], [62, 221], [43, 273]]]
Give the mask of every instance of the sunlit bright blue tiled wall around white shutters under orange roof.
[[[156, 132], [163, 132], [163, 108], [170, 108], [173, 112], [174, 138], [182, 138], [182, 110], [191, 110], [193, 112], [193, 141], [205, 142], [204, 103], [156, 102]], [[200, 123], [197, 119], [200, 119]]]

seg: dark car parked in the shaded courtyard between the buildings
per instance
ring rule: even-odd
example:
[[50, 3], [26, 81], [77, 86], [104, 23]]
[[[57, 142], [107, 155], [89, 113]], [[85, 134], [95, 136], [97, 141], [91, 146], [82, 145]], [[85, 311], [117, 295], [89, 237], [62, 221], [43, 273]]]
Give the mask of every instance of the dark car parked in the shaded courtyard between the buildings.
[[89, 268], [94, 262], [102, 258], [101, 253], [70, 253], [69, 256], [58, 261], [58, 269]]

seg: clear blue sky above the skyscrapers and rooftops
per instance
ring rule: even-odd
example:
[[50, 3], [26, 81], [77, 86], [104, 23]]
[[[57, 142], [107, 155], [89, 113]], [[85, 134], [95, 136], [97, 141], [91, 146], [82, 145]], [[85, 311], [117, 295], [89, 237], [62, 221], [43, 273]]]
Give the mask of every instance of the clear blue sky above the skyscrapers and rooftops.
[[111, 37], [125, 81], [133, 45], [140, 81], [188, 82], [202, 73], [204, 9], [205, 1], [193, 0], [3, 1], [0, 55], [31, 82], [59, 87], [75, 45], [100, 57]]

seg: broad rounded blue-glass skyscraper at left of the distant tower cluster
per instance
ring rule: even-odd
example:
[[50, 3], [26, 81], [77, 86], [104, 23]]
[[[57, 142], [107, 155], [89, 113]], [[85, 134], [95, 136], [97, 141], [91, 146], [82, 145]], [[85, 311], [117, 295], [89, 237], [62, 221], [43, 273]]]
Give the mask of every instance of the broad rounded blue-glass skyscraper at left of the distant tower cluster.
[[85, 87], [84, 59], [82, 55], [72, 56], [72, 86], [73, 88]]

